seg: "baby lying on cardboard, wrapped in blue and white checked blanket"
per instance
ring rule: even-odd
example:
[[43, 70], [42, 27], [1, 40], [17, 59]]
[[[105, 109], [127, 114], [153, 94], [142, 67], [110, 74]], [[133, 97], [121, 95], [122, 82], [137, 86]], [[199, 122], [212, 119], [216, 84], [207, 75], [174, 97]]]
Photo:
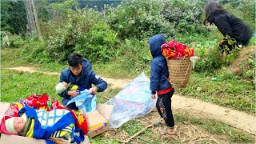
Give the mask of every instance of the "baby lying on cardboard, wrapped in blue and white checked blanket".
[[80, 143], [84, 140], [82, 130], [74, 125], [74, 118], [69, 110], [54, 109], [46, 112], [25, 106], [19, 114], [20, 117], [5, 121], [6, 130], [12, 134], [45, 139], [47, 143], [50, 140], [55, 143]]

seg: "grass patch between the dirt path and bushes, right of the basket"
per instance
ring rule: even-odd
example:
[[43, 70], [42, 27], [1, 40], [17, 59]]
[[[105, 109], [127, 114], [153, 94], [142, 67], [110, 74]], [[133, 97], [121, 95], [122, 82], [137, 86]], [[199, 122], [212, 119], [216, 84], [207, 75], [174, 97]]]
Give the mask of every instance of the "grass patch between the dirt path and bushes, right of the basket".
[[[212, 81], [211, 78], [217, 78]], [[197, 90], [201, 87], [202, 90]], [[178, 94], [200, 98], [206, 102], [214, 102], [220, 106], [231, 107], [236, 110], [255, 112], [254, 82], [244, 81], [229, 72], [208, 76], [194, 73], [186, 88], [177, 89]]]

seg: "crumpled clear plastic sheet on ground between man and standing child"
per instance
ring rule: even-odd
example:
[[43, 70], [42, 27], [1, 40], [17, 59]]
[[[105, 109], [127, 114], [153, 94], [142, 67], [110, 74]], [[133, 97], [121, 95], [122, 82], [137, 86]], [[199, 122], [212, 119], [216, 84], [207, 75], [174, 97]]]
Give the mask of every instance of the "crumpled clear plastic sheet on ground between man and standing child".
[[118, 128], [134, 118], [142, 118], [154, 110], [156, 100], [151, 98], [150, 79], [144, 73], [134, 78], [106, 104], [114, 105], [110, 128]]

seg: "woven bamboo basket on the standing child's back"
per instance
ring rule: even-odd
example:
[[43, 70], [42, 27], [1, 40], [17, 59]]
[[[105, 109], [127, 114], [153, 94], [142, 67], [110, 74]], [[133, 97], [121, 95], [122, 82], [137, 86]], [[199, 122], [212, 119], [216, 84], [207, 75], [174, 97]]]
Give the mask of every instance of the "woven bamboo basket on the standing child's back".
[[190, 58], [167, 59], [167, 66], [171, 84], [175, 87], [186, 87], [192, 70]]

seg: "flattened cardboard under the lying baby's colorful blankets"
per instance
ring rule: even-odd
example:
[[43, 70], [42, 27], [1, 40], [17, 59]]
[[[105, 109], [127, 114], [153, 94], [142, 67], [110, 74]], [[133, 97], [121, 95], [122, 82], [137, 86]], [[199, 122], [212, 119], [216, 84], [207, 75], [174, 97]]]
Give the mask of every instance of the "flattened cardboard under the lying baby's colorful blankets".
[[[10, 106], [9, 102], [0, 102], [0, 121], [4, 117], [6, 110]], [[1, 134], [1, 133], [0, 133]], [[1, 134], [0, 136], [0, 143], [8, 143], [8, 144], [13, 144], [13, 143], [18, 143], [18, 144], [46, 144], [45, 140], [42, 139], [35, 139], [35, 138], [26, 138], [26, 137], [21, 137], [18, 135], [8, 135], [8, 134]], [[85, 141], [81, 142], [81, 144], [90, 144], [88, 136], [85, 136]]]

